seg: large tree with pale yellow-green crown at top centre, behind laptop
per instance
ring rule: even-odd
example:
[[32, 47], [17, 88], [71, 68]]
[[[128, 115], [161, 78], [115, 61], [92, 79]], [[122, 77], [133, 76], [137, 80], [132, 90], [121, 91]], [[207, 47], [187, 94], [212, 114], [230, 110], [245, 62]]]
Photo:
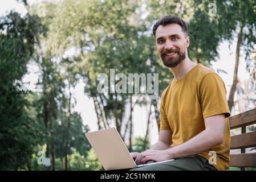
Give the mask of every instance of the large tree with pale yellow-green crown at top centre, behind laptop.
[[[88, 96], [94, 100], [99, 129], [109, 126], [113, 119], [117, 131], [121, 132], [128, 94], [97, 93], [97, 75], [108, 74], [111, 68], [123, 73], [141, 73], [148, 69], [144, 66], [147, 56], [140, 55], [145, 45], [140, 42], [138, 32], [143, 27], [133, 26], [129, 19], [129, 15], [136, 15], [136, 7], [136, 2], [64, 1], [50, 25], [48, 49], [60, 56], [70, 48], [78, 52], [76, 57], [83, 68], [80, 75], [86, 81]], [[70, 9], [74, 11], [72, 16]], [[141, 67], [135, 66], [135, 61]], [[119, 68], [116, 63], [120, 64]]]

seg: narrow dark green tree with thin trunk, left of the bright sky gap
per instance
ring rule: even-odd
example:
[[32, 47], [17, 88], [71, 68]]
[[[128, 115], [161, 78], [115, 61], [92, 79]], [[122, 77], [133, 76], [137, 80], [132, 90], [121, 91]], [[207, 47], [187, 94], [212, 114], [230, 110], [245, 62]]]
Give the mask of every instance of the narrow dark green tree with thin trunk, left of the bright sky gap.
[[62, 98], [64, 83], [58, 72], [58, 64], [49, 52], [44, 53], [38, 48], [36, 62], [41, 74], [37, 86], [42, 89], [38, 101], [38, 119], [44, 123], [46, 130], [46, 157], [52, 159], [52, 170], [55, 170], [54, 122], [58, 118], [58, 101]]

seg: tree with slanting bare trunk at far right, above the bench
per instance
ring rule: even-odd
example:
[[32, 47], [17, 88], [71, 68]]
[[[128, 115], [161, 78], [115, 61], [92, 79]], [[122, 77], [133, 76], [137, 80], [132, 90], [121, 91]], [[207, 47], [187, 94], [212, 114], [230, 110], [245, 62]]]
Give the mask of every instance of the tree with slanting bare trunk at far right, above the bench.
[[[256, 3], [255, 1], [225, 1], [226, 6], [226, 17], [228, 19], [224, 19], [226, 23], [227, 29], [232, 34], [231, 40], [234, 39], [234, 35], [237, 35], [237, 47], [235, 50], [235, 67], [234, 67], [234, 75], [233, 75], [233, 83], [229, 93], [229, 100], [227, 101], [229, 104], [229, 110], [232, 109], [234, 105], [234, 93], [237, 85], [237, 73], [238, 73], [238, 65], [240, 59], [241, 47], [245, 52], [245, 59], [247, 64], [250, 65], [251, 61], [251, 53], [254, 52], [254, 45], [256, 42], [256, 26], [255, 26], [255, 16], [256, 16]], [[225, 12], [225, 11], [224, 11]]]

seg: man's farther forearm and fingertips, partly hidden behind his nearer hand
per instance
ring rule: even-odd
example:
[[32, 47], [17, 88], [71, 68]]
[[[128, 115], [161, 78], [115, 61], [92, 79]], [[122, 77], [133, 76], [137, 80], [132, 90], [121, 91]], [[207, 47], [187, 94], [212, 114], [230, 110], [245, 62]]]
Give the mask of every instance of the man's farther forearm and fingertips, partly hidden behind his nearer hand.
[[[160, 130], [159, 140], [151, 147], [152, 150], [166, 150], [172, 144], [172, 130]], [[136, 159], [139, 152], [131, 152], [133, 159]]]

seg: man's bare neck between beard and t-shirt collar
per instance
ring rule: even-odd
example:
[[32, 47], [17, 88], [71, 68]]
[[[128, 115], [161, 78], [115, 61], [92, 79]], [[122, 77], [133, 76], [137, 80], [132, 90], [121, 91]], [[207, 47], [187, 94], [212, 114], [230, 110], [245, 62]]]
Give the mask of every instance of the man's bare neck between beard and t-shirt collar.
[[186, 57], [180, 64], [177, 65], [177, 67], [170, 68], [173, 73], [174, 80], [181, 80], [181, 78], [183, 78], [191, 69], [196, 67], [196, 65], [196, 63]]

